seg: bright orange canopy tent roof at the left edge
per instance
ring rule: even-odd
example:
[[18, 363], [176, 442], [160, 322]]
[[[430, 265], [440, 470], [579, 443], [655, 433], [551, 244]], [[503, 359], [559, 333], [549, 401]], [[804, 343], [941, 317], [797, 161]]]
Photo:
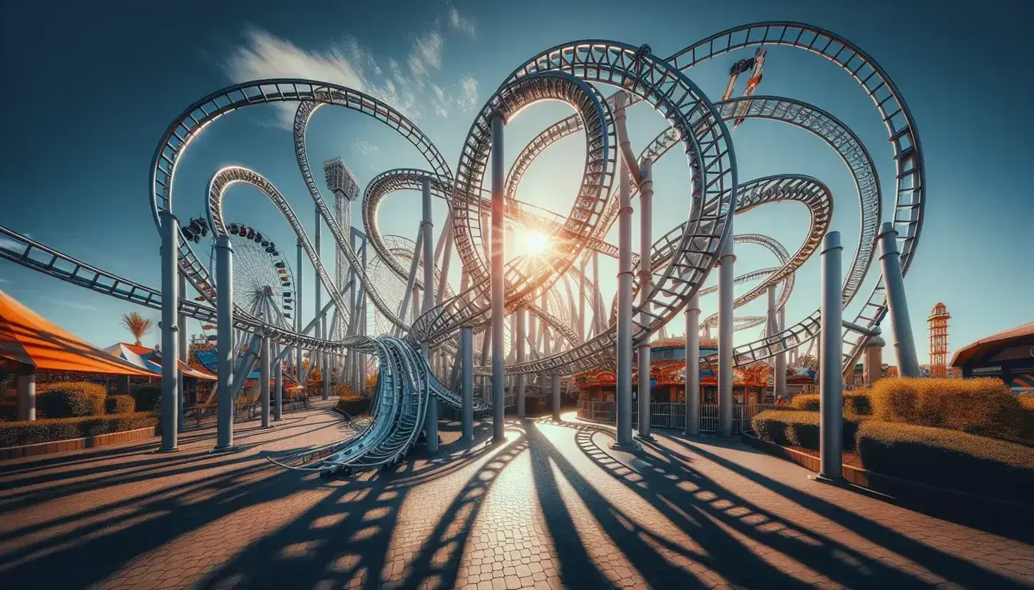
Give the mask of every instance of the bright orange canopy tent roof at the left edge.
[[154, 376], [61, 330], [2, 290], [0, 360], [29, 365], [37, 371]]

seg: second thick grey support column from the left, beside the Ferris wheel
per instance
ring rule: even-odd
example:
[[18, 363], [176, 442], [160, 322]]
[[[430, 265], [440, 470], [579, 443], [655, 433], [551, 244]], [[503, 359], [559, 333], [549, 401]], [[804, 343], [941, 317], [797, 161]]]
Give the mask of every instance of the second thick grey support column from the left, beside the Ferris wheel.
[[[301, 249], [299, 249], [301, 251]], [[218, 353], [219, 398], [216, 422], [215, 447], [230, 451], [234, 447], [234, 247], [229, 236], [215, 239], [216, 291], [216, 352]], [[301, 266], [298, 267], [301, 275]], [[301, 283], [301, 276], [299, 282]], [[296, 298], [301, 306], [301, 299]], [[296, 312], [300, 313], [300, 312]], [[298, 349], [301, 373], [301, 348]]]

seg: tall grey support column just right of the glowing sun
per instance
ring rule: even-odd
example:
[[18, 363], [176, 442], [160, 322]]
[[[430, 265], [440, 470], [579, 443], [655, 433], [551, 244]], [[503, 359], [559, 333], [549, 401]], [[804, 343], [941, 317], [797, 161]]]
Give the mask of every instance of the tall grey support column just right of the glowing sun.
[[[614, 123], [618, 128], [618, 139], [624, 137], [625, 105], [628, 95], [617, 95]], [[632, 440], [632, 196], [629, 186], [629, 165], [624, 158], [617, 168], [618, 196], [618, 241], [617, 241], [617, 440], [614, 446], [633, 449], [637, 445]]]

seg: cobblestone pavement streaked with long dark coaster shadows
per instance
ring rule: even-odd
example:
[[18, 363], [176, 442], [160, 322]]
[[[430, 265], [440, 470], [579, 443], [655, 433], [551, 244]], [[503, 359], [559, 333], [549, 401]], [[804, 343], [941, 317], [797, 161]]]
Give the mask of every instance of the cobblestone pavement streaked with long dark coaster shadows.
[[[569, 414], [570, 415], [570, 414]], [[342, 436], [326, 406], [0, 464], [0, 587], [1029, 588], [1034, 547], [807, 478], [743, 444], [512, 421], [432, 459], [321, 479], [264, 460]], [[417, 454], [419, 455], [419, 454]]]

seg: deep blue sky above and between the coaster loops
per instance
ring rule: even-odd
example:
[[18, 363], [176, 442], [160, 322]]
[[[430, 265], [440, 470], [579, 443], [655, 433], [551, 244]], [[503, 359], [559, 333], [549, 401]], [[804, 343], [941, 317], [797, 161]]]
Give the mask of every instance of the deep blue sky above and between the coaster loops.
[[[939, 301], [953, 315], [952, 350], [1034, 320], [1029, 303], [1034, 276], [1028, 263], [1032, 205], [1025, 178], [1034, 160], [1034, 116], [1027, 106], [1034, 83], [1025, 72], [1030, 48], [1023, 42], [1034, 35], [1034, 14], [1022, 0], [905, 4], [642, 1], [629, 8], [627, 2], [604, 0], [589, 8], [538, 0], [314, 1], [301, 10], [285, 2], [185, 1], [177, 3], [174, 14], [146, 3], [56, 9], [7, 2], [0, 7], [0, 67], [8, 89], [0, 100], [10, 115], [0, 142], [0, 224], [157, 286], [158, 236], [147, 187], [155, 145], [186, 105], [233, 82], [297, 75], [362, 86], [413, 116], [455, 168], [473, 112], [538, 51], [604, 38], [649, 43], [655, 54], [666, 56], [731, 26], [802, 21], [865, 50], [894, 80], [915, 116], [925, 150], [927, 205], [906, 285], [920, 362], [925, 362], [925, 316]], [[729, 65], [751, 53], [712, 60], [688, 74], [718, 99]], [[886, 132], [872, 102], [846, 73], [816, 56], [773, 49], [758, 93], [812, 102], [851, 126], [876, 160], [887, 201], [884, 218], [889, 216], [893, 167]], [[508, 158], [567, 114], [558, 104], [522, 113], [507, 129]], [[200, 215], [211, 174], [241, 164], [269, 178], [311, 235], [313, 208], [295, 164], [287, 120], [284, 111], [262, 106], [206, 129], [177, 173], [177, 214]], [[639, 150], [663, 122], [648, 110], [634, 108], [630, 124]], [[857, 198], [846, 168], [825, 145], [777, 123], [744, 124], [734, 142], [741, 181], [795, 173], [828, 184], [837, 198], [833, 228], [844, 234], [846, 255], [851, 255]], [[314, 117], [308, 150], [313, 163], [342, 156], [361, 184], [391, 167], [426, 167], [404, 139], [368, 118], [330, 108]], [[531, 167], [519, 196], [569, 210], [583, 153], [580, 135], [552, 148]], [[686, 218], [685, 159], [668, 156], [656, 174], [655, 230], [660, 235]], [[415, 237], [417, 198], [416, 193], [389, 197], [382, 210], [383, 230]], [[435, 207], [440, 224], [445, 208]], [[232, 189], [226, 217], [253, 224], [281, 244], [293, 243], [273, 206], [248, 188]], [[793, 251], [807, 230], [807, 214], [789, 204], [761, 208], [737, 217], [736, 229], [768, 234]], [[774, 262], [756, 247], [742, 247], [737, 255], [737, 274]], [[326, 245], [324, 257], [333, 265]], [[603, 270], [612, 276], [616, 267], [605, 263]], [[311, 293], [311, 269], [306, 278]], [[815, 259], [799, 272], [788, 321], [818, 306], [818, 279]], [[875, 280], [871, 271], [859, 303]], [[605, 288], [613, 284], [604, 281]], [[139, 310], [157, 317], [157, 312], [4, 260], [0, 289], [101, 346], [128, 339], [118, 325], [120, 314]], [[713, 297], [703, 303], [705, 314], [716, 309]], [[305, 306], [311, 311], [311, 301]], [[761, 302], [742, 309], [743, 314], [762, 311]], [[681, 327], [672, 332], [680, 333]], [[737, 342], [756, 336], [756, 330], [739, 333]], [[153, 334], [146, 342], [156, 339]]]

